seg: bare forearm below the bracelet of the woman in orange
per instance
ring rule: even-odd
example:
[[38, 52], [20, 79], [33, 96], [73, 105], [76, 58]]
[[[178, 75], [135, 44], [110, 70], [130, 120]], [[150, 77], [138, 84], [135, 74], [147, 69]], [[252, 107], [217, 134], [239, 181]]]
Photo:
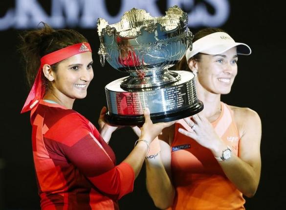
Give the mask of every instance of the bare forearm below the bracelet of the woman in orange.
[[157, 208], [167, 209], [173, 203], [175, 189], [161, 162], [160, 153], [145, 163], [147, 190]]

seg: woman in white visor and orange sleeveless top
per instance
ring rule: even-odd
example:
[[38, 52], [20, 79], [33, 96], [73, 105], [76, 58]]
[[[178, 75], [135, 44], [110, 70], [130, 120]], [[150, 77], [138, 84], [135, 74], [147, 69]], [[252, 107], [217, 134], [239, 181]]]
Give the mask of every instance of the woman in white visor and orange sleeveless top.
[[243, 210], [243, 195], [255, 194], [261, 171], [260, 117], [220, 99], [231, 90], [238, 54], [250, 53], [250, 47], [219, 28], [195, 34], [193, 49], [176, 69], [197, 75], [204, 109], [165, 128], [157, 153], [146, 159], [147, 188], [158, 208]]

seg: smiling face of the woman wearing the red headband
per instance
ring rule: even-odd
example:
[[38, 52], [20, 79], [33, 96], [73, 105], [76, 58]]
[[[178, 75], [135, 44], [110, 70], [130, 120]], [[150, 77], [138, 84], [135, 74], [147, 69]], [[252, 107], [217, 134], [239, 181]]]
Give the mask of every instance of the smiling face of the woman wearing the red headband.
[[61, 61], [57, 70], [50, 72], [53, 78], [51, 91], [47, 93], [50, 99], [69, 104], [76, 98], [86, 97], [93, 78], [92, 62], [91, 52], [76, 54]]

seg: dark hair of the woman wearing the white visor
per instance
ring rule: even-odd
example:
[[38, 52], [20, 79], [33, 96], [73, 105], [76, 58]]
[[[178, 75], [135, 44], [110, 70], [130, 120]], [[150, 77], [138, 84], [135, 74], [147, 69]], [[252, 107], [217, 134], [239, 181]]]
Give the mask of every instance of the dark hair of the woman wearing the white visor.
[[[197, 40], [199, 40], [202, 37], [205, 37], [205, 36], [207, 36], [209, 34], [216, 33], [216, 32], [225, 32], [225, 31], [220, 29], [220, 28], [211, 28], [211, 27], [201, 29], [194, 35], [193, 43], [196, 42]], [[195, 59], [196, 61], [199, 61], [200, 60], [200, 56], [201, 56], [201, 53], [198, 53], [198, 54], [194, 55], [192, 58]], [[187, 60], [186, 60], [186, 57], [184, 56], [176, 64], [176, 66], [174, 66], [172, 69], [174, 69], [174, 70], [190, 70], [189, 69], [189, 65], [187, 63]]]

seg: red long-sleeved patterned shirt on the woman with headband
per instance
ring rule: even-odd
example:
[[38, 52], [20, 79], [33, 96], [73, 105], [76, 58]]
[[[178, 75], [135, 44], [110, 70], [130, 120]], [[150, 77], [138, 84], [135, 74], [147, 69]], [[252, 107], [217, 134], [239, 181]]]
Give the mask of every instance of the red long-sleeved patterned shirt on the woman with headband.
[[35, 109], [32, 145], [42, 210], [117, 210], [117, 200], [133, 189], [132, 167], [116, 165], [110, 146], [75, 111], [43, 100]]

